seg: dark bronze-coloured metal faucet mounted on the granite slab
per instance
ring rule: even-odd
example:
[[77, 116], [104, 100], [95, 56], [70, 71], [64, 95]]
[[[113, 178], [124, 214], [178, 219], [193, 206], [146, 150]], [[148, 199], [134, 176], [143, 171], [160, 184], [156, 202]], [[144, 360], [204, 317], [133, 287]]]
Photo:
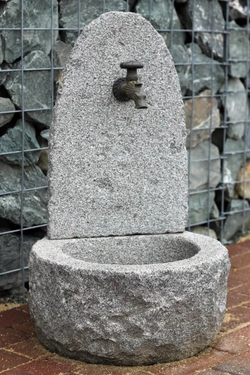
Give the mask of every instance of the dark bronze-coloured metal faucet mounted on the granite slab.
[[137, 69], [143, 68], [143, 64], [138, 61], [121, 62], [122, 69], [127, 69], [126, 78], [118, 78], [113, 84], [114, 97], [126, 102], [132, 99], [135, 102], [135, 108], [147, 108], [146, 93], [142, 88], [142, 83], [137, 83]]

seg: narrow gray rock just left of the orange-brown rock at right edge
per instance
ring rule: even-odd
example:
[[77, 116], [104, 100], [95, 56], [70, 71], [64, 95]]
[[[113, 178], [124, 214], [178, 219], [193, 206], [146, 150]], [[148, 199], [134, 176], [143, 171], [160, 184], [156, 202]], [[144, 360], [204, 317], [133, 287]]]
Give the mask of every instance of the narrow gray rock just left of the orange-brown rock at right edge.
[[224, 173], [223, 173], [223, 183], [227, 185], [227, 194], [229, 198], [234, 197], [234, 187], [235, 181], [237, 181], [238, 173], [241, 164], [244, 161], [243, 151], [244, 142], [242, 140], [233, 140], [228, 138], [224, 147], [226, 153], [226, 160], [224, 161]]

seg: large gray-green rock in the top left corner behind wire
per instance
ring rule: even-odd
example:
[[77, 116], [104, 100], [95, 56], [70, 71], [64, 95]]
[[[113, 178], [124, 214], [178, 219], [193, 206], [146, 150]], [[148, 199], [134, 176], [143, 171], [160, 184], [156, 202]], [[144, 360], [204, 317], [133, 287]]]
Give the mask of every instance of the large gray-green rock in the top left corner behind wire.
[[[53, 27], [58, 28], [58, 2], [57, 0], [53, 1]], [[23, 1], [23, 7], [23, 27], [51, 27], [51, 0]], [[0, 2], [0, 25], [1, 27], [21, 28], [20, 0], [11, 0], [6, 3]], [[57, 37], [58, 31], [54, 30], [54, 40]], [[13, 62], [21, 57], [21, 30], [0, 30], [0, 38], [2, 38], [3, 56], [6, 62]], [[24, 30], [24, 54], [33, 50], [42, 50], [45, 54], [48, 54], [50, 49], [50, 30]]]

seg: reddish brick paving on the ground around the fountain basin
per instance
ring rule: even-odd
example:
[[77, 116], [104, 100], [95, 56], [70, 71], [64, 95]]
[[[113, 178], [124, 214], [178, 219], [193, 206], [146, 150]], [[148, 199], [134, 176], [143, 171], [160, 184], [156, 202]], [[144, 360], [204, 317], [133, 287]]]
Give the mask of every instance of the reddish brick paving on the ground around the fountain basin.
[[48, 352], [28, 305], [0, 312], [1, 375], [250, 375], [250, 241], [228, 247], [227, 313], [211, 347], [178, 362], [142, 367], [91, 365]]

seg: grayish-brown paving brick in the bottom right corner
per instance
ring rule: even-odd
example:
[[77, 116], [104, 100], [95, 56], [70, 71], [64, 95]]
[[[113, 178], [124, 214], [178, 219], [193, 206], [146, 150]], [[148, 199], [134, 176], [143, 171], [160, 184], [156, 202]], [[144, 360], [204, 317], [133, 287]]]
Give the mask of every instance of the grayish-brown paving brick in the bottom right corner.
[[240, 354], [213, 367], [214, 370], [232, 375], [250, 375], [250, 353]]

